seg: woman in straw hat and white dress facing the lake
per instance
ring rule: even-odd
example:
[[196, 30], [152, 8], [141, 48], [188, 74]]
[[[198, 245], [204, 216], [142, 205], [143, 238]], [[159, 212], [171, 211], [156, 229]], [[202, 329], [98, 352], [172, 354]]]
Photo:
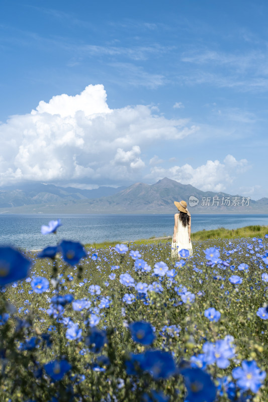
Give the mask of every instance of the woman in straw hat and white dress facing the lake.
[[191, 243], [191, 214], [187, 209], [185, 201], [180, 203], [174, 201], [178, 209], [178, 214], [174, 215], [174, 232], [171, 243], [171, 257], [180, 258], [178, 252], [182, 249], [189, 251], [193, 255], [193, 247]]

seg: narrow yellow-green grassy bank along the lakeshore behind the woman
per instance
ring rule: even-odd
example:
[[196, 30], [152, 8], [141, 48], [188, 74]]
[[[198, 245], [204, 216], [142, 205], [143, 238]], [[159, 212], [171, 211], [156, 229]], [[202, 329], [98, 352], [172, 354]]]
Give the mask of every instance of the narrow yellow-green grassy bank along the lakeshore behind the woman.
[[[192, 233], [191, 239], [193, 242], [200, 241], [200, 240], [208, 240], [208, 239], [233, 239], [237, 237], [261, 237], [263, 238], [264, 235], [268, 233], [268, 226], [260, 226], [260, 225], [252, 225], [252, 226], [245, 226], [243, 228], [238, 229], [225, 229], [224, 227], [213, 229], [213, 230], [202, 230], [199, 232]], [[131, 243], [136, 245], [141, 244], [158, 244], [159, 241], [161, 242], [169, 242], [171, 241], [171, 237], [151, 237], [149, 239], [139, 239], [139, 240], [129, 240], [125, 241], [124, 243]], [[107, 248], [113, 247], [118, 243], [122, 243], [122, 241], [106, 241], [102, 243], [88, 243], [85, 244], [85, 247], [95, 247], [95, 248]]]

